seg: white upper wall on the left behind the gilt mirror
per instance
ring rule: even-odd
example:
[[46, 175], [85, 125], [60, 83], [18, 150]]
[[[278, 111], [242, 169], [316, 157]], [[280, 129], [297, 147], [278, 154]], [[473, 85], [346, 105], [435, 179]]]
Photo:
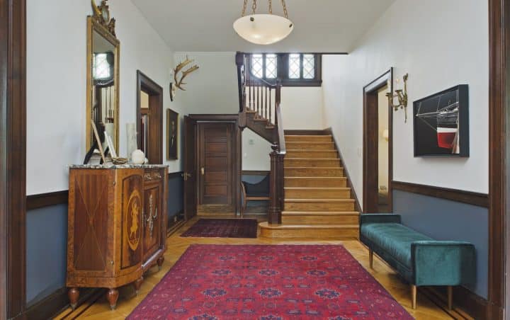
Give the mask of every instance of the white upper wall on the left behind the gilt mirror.
[[[27, 2], [27, 194], [33, 195], [67, 190], [67, 165], [81, 163], [86, 153], [86, 16], [91, 4]], [[164, 88], [165, 109], [182, 111], [169, 99], [171, 49], [131, 1], [108, 4], [120, 40], [120, 155], [125, 156], [125, 125], [136, 117], [137, 69]], [[180, 161], [169, 165], [170, 172], [181, 170]]]

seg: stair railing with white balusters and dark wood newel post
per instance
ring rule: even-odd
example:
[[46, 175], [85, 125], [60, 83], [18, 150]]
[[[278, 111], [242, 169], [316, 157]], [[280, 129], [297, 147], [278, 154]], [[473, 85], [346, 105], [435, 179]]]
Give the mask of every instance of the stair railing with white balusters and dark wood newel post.
[[239, 126], [246, 127], [246, 114], [254, 113], [256, 119], [267, 120], [269, 126], [274, 126], [277, 134], [269, 154], [271, 159], [268, 223], [281, 224], [285, 205], [285, 172], [283, 162], [285, 159], [285, 134], [281, 102], [281, 82], [271, 84], [259, 79], [246, 71], [249, 66], [250, 55], [237, 52], [237, 80], [239, 84]]

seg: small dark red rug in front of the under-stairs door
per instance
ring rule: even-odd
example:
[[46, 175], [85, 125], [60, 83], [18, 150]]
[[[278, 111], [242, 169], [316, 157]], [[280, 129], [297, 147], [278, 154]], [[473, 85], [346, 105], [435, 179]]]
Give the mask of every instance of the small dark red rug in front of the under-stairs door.
[[256, 231], [256, 219], [200, 219], [181, 236], [256, 238]]

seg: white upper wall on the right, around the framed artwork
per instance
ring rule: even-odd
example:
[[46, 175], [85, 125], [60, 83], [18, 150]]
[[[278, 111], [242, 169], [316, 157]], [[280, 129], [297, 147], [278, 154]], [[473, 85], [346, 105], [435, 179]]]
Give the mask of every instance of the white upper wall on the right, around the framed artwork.
[[[404, 123], [402, 111], [394, 114], [394, 179], [488, 192], [487, 17], [487, 1], [397, 0], [350, 55], [324, 57], [324, 117], [358, 196], [363, 194], [361, 92], [390, 67], [395, 78], [409, 72], [409, 120]], [[414, 158], [412, 101], [457, 84], [470, 85], [470, 158]]]

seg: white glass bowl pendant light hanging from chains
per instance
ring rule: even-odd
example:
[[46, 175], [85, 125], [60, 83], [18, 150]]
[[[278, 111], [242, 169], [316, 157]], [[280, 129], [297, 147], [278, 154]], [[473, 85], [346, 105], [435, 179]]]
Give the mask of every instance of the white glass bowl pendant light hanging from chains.
[[283, 15], [273, 14], [273, 1], [269, 1], [269, 13], [256, 13], [257, 0], [253, 0], [251, 14], [246, 16], [248, 0], [244, 0], [241, 18], [234, 22], [234, 30], [246, 41], [256, 45], [271, 45], [287, 38], [293, 31], [294, 24], [288, 19], [285, 0], [282, 1]]

